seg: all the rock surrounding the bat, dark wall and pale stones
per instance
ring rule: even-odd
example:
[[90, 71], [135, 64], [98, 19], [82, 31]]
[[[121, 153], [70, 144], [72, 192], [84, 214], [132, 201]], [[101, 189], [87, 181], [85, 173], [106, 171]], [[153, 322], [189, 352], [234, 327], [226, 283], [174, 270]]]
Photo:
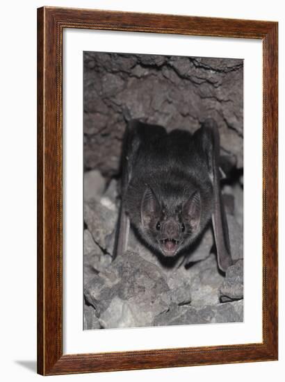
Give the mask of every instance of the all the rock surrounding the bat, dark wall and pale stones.
[[[243, 321], [243, 60], [85, 52], [83, 61], [84, 329]], [[219, 272], [211, 227], [186, 266], [161, 263], [133, 233], [112, 262], [127, 123], [193, 132], [206, 117], [227, 158], [234, 265]]]

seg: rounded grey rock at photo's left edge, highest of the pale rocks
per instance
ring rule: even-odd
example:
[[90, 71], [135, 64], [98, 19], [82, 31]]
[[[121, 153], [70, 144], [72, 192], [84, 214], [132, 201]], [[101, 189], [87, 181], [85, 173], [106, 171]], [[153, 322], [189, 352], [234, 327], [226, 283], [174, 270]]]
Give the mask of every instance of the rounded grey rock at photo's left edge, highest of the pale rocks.
[[98, 199], [103, 194], [106, 181], [97, 169], [84, 173], [84, 201]]

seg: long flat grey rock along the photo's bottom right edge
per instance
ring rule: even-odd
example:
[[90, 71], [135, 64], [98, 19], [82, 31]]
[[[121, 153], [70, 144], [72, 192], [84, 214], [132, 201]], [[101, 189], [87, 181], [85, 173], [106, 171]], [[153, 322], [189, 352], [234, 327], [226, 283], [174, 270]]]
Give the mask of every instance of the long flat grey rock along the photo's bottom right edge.
[[243, 322], [243, 300], [206, 307], [177, 306], [156, 316], [154, 326]]

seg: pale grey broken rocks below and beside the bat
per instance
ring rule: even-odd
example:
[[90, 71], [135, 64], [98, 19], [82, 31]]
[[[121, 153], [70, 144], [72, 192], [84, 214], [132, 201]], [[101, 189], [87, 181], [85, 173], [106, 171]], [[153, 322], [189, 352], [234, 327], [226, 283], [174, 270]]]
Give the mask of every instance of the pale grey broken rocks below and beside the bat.
[[243, 230], [231, 204], [227, 217], [235, 263], [222, 274], [211, 227], [186, 266], [162, 264], [132, 232], [128, 251], [112, 262], [119, 203], [117, 181], [104, 190], [97, 170], [86, 173], [84, 329], [243, 321]]

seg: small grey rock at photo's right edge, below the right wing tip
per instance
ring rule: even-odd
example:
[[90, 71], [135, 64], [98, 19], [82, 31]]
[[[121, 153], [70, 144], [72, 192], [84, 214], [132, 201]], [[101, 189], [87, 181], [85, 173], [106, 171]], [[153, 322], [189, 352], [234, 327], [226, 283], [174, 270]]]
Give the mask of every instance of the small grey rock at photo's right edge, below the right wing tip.
[[220, 287], [221, 301], [243, 299], [243, 260], [238, 260], [227, 269], [226, 278]]

